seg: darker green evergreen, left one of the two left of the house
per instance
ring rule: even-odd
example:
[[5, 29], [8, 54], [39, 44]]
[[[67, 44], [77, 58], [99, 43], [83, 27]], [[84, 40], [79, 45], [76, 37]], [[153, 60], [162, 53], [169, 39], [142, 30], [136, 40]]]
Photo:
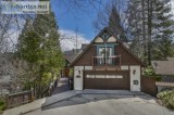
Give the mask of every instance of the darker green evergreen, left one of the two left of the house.
[[39, 37], [39, 35], [37, 35], [33, 30], [32, 22], [27, 20], [22, 30], [22, 34], [18, 37], [17, 44], [18, 58], [27, 63], [27, 69], [24, 73], [23, 77], [24, 79], [26, 79], [26, 81], [24, 81], [23, 86], [28, 88], [25, 90], [29, 90], [30, 87], [33, 87], [36, 80], [36, 76], [38, 76], [39, 69], [36, 65], [38, 64], [41, 54], [40, 40], [41, 38]]

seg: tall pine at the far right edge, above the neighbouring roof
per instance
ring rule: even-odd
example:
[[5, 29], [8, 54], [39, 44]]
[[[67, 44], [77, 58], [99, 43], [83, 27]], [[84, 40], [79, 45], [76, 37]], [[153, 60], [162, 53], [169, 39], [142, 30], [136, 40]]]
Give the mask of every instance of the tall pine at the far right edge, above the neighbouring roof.
[[171, 13], [171, 0], [156, 0], [153, 2], [152, 38], [154, 60], [166, 60], [174, 56], [173, 27], [174, 21]]

